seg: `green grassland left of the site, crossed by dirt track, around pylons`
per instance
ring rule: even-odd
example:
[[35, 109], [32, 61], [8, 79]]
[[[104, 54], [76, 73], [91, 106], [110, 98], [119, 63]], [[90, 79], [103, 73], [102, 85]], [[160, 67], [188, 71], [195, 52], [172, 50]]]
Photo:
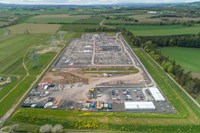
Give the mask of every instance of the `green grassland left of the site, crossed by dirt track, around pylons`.
[[[74, 33], [66, 33], [65, 41], [69, 41], [74, 35]], [[4, 64], [0, 66], [0, 75], [16, 77], [16, 80], [0, 90], [0, 117], [17, 103], [56, 56], [58, 51], [38, 53], [40, 67], [32, 67], [29, 50], [32, 48], [48, 49], [51, 46], [50, 37], [51, 34], [8, 35], [0, 40], [0, 50], [2, 51], [0, 64]], [[62, 48], [64, 45], [59, 46]]]

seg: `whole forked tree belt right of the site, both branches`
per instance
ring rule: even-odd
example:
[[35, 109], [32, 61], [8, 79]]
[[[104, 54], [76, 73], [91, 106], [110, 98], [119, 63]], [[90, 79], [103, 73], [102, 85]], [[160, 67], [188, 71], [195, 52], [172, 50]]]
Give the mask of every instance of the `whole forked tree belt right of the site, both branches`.
[[[185, 72], [184, 69], [176, 63], [165, 57], [157, 50], [160, 46], [180, 46], [180, 47], [200, 47], [200, 34], [169, 37], [143, 37], [138, 38], [130, 31], [123, 29], [123, 35], [135, 47], [142, 47], [161, 67], [169, 73], [188, 93], [193, 97], [200, 94], [200, 79], [193, 78], [191, 72]], [[151, 38], [151, 39], [150, 39]], [[189, 41], [188, 41], [189, 40]], [[195, 43], [194, 43], [195, 42]]]

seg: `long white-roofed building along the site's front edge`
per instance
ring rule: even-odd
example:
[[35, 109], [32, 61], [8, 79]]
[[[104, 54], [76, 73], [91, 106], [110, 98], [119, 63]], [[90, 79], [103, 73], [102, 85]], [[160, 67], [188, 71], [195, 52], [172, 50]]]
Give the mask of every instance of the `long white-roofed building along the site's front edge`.
[[125, 102], [126, 110], [155, 110], [153, 102]]

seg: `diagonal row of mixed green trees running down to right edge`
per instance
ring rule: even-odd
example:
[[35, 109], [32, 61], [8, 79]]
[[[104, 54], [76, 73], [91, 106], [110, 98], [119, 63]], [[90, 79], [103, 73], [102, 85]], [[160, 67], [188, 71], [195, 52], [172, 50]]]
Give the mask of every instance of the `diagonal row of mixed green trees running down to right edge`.
[[193, 78], [191, 72], [185, 72], [184, 69], [176, 63], [176, 61], [163, 56], [160, 51], [156, 50], [157, 46], [151, 41], [145, 42], [142, 47], [190, 94], [193, 96], [200, 94], [200, 79]]

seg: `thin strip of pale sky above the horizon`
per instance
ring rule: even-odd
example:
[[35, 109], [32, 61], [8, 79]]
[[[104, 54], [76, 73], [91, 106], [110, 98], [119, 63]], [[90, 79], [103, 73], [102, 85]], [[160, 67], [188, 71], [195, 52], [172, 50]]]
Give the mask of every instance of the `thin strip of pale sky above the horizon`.
[[180, 3], [194, 0], [0, 0], [12, 4], [115, 4], [115, 3]]

